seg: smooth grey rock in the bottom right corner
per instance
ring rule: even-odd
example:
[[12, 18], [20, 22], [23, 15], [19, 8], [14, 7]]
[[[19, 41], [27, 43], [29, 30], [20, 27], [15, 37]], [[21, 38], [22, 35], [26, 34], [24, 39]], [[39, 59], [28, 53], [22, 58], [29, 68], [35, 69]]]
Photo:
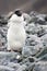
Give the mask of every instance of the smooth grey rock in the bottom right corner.
[[33, 71], [47, 71], [47, 61], [39, 61], [35, 64]]

